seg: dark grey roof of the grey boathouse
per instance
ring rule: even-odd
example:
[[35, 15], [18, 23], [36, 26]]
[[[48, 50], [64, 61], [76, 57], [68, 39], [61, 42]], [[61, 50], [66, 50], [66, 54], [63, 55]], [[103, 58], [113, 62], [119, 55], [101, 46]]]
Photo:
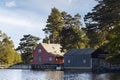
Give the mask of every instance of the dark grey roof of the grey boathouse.
[[83, 54], [92, 54], [95, 50], [91, 48], [84, 49], [72, 49], [68, 51], [65, 55], [83, 55]]

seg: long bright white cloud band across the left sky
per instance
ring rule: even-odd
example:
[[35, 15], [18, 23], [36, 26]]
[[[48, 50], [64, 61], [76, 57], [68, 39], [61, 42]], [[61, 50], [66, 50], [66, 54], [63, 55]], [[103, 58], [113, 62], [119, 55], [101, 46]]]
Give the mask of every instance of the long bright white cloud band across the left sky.
[[[43, 22], [44, 20], [42, 16], [39, 16], [38, 14], [29, 11], [21, 11], [21, 13], [19, 13], [15, 11], [0, 9], [0, 13], [0, 24], [8, 24], [21, 28], [26, 27], [29, 29], [38, 27], [42, 29], [45, 26], [45, 22]], [[41, 17], [41, 19], [39, 17]]]

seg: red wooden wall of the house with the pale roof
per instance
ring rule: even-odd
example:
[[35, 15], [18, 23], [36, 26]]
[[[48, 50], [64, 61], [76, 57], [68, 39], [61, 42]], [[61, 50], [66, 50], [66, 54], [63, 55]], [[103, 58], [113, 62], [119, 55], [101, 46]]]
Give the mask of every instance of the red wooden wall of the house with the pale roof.
[[[38, 49], [41, 49], [41, 53], [38, 52]], [[41, 56], [41, 62], [39, 62], [39, 56]], [[52, 61], [49, 61], [49, 57], [52, 57]], [[33, 52], [32, 64], [59, 64], [59, 62], [56, 62], [55, 55], [48, 53], [43, 46], [39, 44]]]

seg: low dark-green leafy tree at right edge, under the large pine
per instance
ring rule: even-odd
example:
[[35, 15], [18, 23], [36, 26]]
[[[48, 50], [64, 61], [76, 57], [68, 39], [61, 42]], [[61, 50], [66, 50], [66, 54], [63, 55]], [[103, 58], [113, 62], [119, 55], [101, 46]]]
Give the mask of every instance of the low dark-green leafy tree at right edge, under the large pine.
[[106, 45], [105, 50], [110, 53], [110, 56], [106, 59], [112, 64], [120, 64], [120, 25], [116, 25], [111, 31], [110, 41]]

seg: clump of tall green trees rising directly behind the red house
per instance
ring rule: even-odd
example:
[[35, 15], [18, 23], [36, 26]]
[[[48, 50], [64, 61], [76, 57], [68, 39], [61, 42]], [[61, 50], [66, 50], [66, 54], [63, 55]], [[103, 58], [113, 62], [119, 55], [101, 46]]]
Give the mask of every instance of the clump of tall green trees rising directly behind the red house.
[[46, 28], [43, 29], [49, 33], [49, 37], [45, 37], [43, 42], [47, 43], [50, 40], [51, 43], [60, 43], [62, 51], [86, 47], [88, 38], [85, 38], [86, 34], [81, 29], [80, 18], [79, 14], [72, 17], [66, 12], [60, 12], [53, 8], [48, 17]]

